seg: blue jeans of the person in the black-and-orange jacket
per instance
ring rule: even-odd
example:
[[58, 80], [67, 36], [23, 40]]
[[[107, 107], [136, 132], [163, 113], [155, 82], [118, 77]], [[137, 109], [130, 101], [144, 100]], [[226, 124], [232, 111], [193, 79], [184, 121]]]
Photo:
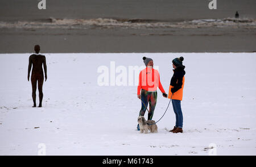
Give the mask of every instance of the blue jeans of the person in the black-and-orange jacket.
[[183, 126], [183, 115], [182, 115], [182, 111], [181, 111], [180, 101], [172, 99], [172, 107], [174, 107], [174, 113], [175, 113], [175, 116], [176, 116], [175, 127], [182, 128], [182, 126]]

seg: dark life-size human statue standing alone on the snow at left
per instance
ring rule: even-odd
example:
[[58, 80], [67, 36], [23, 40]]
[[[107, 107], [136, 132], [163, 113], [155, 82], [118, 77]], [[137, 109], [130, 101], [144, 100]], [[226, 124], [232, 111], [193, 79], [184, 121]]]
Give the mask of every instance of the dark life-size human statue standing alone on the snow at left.
[[[43, 101], [43, 82], [44, 82], [44, 74], [47, 80], [47, 66], [46, 66], [46, 56], [40, 55], [40, 46], [35, 45], [35, 54], [31, 55], [28, 62], [28, 73], [27, 73], [27, 80], [30, 81], [30, 70], [31, 66], [32, 73], [31, 73], [31, 83], [32, 83], [32, 98], [34, 102], [34, 106], [36, 107], [36, 82], [38, 81], [38, 90], [39, 90], [39, 106], [42, 107]], [[44, 66], [44, 73], [43, 68]]]

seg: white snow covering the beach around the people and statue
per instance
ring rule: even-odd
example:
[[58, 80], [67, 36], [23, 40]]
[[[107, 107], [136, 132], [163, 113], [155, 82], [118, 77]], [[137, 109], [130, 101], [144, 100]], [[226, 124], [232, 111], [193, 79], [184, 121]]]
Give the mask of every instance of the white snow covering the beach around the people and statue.
[[[0, 54], [0, 155], [39, 155], [42, 144], [46, 155], [256, 155], [255, 53], [47, 53], [42, 108], [31, 107], [30, 54]], [[133, 86], [99, 86], [100, 66], [111, 74], [114, 61], [128, 75], [143, 56], [158, 66], [167, 93], [171, 60], [184, 57], [183, 133], [167, 131], [171, 104], [158, 133], [136, 130], [138, 73]], [[168, 102], [158, 89], [154, 120]]]

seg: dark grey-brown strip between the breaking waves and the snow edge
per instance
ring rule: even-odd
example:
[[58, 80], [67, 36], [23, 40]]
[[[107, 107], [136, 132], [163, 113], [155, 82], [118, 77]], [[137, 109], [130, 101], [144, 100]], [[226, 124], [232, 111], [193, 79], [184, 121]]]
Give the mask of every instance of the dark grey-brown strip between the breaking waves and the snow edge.
[[255, 30], [167, 28], [124, 30], [0, 29], [0, 53], [255, 52]]

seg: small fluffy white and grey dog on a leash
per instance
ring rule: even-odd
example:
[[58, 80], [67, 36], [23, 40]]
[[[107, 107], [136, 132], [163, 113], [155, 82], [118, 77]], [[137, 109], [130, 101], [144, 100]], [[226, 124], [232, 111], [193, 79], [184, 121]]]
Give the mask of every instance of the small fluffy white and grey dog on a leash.
[[141, 133], [147, 133], [148, 130], [150, 130], [152, 133], [158, 132], [158, 126], [156, 126], [154, 120], [146, 120], [144, 116], [139, 116], [138, 123]]

